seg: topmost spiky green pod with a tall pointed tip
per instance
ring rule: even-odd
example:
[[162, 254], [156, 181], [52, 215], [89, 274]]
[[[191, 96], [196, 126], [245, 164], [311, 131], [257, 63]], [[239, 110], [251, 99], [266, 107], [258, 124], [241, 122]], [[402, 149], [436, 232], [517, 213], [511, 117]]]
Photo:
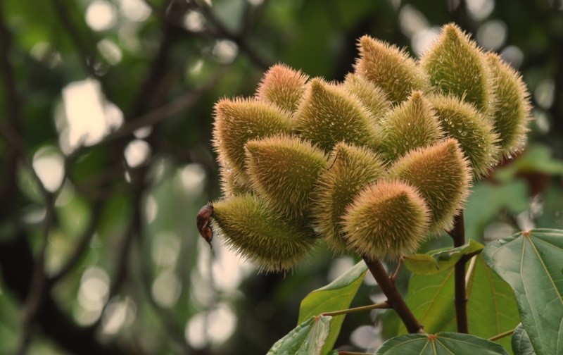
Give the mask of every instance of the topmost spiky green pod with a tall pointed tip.
[[483, 51], [460, 27], [445, 25], [420, 61], [431, 84], [443, 94], [454, 94], [483, 113], [490, 111], [493, 92]]

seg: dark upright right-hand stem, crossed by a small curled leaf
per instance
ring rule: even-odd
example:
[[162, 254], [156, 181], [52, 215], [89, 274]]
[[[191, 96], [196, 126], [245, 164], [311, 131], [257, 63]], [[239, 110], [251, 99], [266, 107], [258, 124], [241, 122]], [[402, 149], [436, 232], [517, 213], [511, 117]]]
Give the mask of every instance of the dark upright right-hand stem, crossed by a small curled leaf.
[[[449, 232], [453, 238], [453, 246], [461, 247], [465, 244], [465, 226], [463, 222], [463, 211], [454, 218], [453, 230]], [[460, 259], [455, 264], [455, 318], [457, 321], [457, 332], [467, 334], [467, 294], [465, 292], [465, 263], [466, 258]]]

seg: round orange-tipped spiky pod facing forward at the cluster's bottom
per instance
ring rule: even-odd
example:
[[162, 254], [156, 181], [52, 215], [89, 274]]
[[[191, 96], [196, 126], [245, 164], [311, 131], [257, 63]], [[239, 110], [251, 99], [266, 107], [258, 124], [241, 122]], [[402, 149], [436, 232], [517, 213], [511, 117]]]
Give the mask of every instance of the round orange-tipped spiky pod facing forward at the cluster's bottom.
[[343, 216], [348, 245], [369, 259], [398, 259], [426, 237], [430, 211], [419, 192], [400, 181], [366, 187]]

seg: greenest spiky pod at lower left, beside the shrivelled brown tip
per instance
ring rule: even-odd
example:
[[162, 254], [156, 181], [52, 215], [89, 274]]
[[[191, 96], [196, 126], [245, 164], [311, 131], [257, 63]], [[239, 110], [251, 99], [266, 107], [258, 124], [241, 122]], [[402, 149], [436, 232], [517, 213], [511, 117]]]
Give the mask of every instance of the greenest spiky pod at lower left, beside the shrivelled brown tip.
[[297, 266], [315, 245], [308, 230], [251, 194], [215, 202], [213, 229], [232, 250], [267, 271]]

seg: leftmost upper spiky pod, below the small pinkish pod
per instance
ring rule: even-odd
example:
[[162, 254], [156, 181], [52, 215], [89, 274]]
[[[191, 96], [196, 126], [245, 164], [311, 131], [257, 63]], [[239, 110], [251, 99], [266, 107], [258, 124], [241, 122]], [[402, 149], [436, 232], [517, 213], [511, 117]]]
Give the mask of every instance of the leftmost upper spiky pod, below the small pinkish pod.
[[250, 139], [289, 133], [291, 115], [255, 99], [222, 99], [215, 104], [213, 146], [237, 174], [244, 174], [244, 144]]

